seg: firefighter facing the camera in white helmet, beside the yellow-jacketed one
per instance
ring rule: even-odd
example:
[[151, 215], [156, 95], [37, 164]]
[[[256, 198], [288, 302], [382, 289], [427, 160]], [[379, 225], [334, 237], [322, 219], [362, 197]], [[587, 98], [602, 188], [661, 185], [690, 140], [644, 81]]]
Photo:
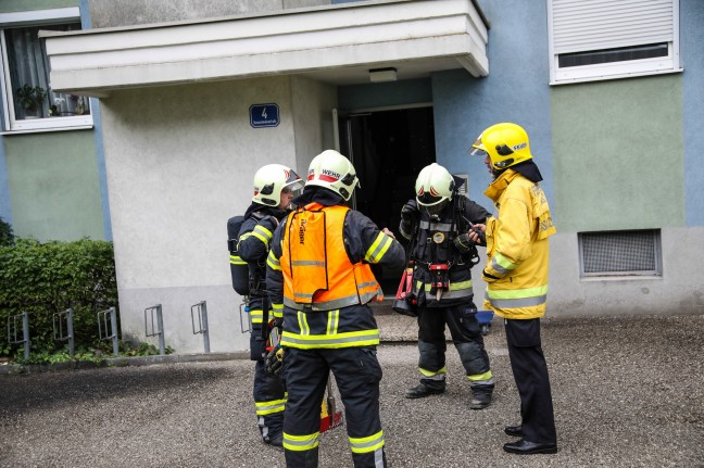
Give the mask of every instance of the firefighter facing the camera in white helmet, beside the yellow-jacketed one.
[[418, 174], [415, 200], [401, 210], [400, 231], [408, 239], [414, 265], [411, 294], [417, 303], [422, 374], [418, 385], [405, 396], [420, 399], [444, 392], [447, 326], [473, 392], [469, 407], [483, 409], [491, 403], [494, 379], [473, 302], [470, 269], [478, 254], [469, 230], [486, 223], [490, 213], [458, 193], [463, 184], [462, 178], [432, 163]]

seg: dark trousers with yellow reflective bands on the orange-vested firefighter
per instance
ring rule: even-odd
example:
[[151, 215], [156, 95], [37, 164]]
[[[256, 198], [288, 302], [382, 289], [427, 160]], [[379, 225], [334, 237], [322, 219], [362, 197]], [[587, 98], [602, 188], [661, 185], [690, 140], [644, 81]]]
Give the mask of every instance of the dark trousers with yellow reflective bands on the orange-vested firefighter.
[[288, 390], [284, 420], [287, 467], [318, 466], [320, 404], [330, 371], [335, 375], [344, 405], [354, 466], [386, 467], [384, 432], [379, 418], [381, 366], [374, 346], [330, 350], [287, 347], [284, 367]]

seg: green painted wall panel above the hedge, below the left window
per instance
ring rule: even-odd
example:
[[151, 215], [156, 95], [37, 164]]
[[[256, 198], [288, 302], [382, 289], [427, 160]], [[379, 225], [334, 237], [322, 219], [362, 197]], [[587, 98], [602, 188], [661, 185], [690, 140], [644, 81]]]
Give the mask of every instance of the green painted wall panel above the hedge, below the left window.
[[16, 236], [105, 238], [93, 144], [90, 130], [4, 138]]

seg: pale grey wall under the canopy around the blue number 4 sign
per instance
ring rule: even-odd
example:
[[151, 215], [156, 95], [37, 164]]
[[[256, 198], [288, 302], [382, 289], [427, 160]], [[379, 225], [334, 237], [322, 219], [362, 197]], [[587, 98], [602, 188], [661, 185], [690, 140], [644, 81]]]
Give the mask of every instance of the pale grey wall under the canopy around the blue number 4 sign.
[[[226, 222], [252, 198], [265, 164], [305, 174], [329, 143], [334, 87], [274, 77], [117, 92], [102, 102], [122, 332], [144, 337], [161, 304], [166, 344], [203, 351], [190, 307], [206, 301], [211, 351], [249, 347], [230, 284]], [[252, 128], [249, 107], [279, 105], [280, 124]]]

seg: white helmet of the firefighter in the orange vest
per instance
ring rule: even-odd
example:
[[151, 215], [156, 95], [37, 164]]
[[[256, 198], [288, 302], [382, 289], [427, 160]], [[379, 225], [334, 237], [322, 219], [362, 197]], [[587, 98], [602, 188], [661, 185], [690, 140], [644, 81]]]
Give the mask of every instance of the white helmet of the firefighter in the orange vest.
[[313, 157], [305, 185], [330, 189], [345, 201], [356, 187], [361, 187], [350, 160], [335, 150], [325, 150]]

